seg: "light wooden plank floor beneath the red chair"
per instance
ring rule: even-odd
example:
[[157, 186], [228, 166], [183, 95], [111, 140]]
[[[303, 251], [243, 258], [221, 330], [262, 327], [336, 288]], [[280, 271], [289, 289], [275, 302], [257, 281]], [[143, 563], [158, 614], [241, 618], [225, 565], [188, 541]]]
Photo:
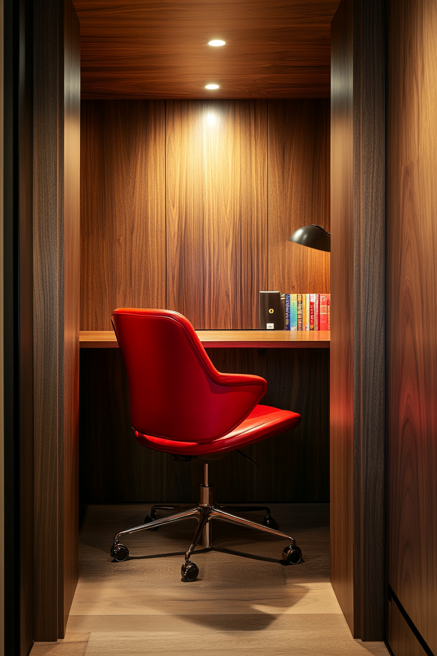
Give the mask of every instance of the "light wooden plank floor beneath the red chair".
[[[194, 583], [180, 576], [194, 520], [124, 540], [130, 558], [113, 563], [113, 534], [142, 523], [146, 504], [89, 506], [80, 534], [79, 584], [65, 640], [35, 643], [31, 656], [386, 656], [382, 643], [353, 640], [329, 582], [329, 506], [273, 504], [304, 562], [280, 562], [286, 541], [224, 523], [214, 544], [253, 554], [197, 554]], [[252, 512], [261, 522], [263, 514]]]

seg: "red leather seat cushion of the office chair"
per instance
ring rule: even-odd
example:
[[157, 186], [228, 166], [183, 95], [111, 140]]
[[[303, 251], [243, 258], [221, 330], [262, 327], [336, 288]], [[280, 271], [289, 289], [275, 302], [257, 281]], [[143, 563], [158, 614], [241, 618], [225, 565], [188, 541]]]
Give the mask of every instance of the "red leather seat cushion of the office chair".
[[299, 424], [301, 416], [288, 410], [279, 410], [269, 405], [256, 405], [234, 430], [218, 440], [210, 442], [189, 442], [165, 440], [135, 431], [136, 439], [150, 449], [177, 453], [180, 455], [204, 455], [206, 453], [221, 453], [234, 451], [240, 447], [252, 444], [265, 438], [284, 433]]

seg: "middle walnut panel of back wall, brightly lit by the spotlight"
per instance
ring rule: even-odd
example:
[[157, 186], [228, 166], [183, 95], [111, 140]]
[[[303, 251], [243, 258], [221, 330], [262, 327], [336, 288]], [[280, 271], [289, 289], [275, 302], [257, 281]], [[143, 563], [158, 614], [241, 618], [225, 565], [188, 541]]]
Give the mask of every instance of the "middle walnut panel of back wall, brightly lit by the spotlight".
[[267, 102], [166, 103], [167, 308], [195, 329], [258, 323], [267, 285]]

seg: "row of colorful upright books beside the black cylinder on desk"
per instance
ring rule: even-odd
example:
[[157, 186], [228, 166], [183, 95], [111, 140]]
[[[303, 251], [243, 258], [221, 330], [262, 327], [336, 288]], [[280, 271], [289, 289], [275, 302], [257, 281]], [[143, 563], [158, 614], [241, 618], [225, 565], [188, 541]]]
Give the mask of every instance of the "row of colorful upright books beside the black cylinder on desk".
[[331, 329], [330, 294], [282, 294], [281, 300], [286, 330]]

